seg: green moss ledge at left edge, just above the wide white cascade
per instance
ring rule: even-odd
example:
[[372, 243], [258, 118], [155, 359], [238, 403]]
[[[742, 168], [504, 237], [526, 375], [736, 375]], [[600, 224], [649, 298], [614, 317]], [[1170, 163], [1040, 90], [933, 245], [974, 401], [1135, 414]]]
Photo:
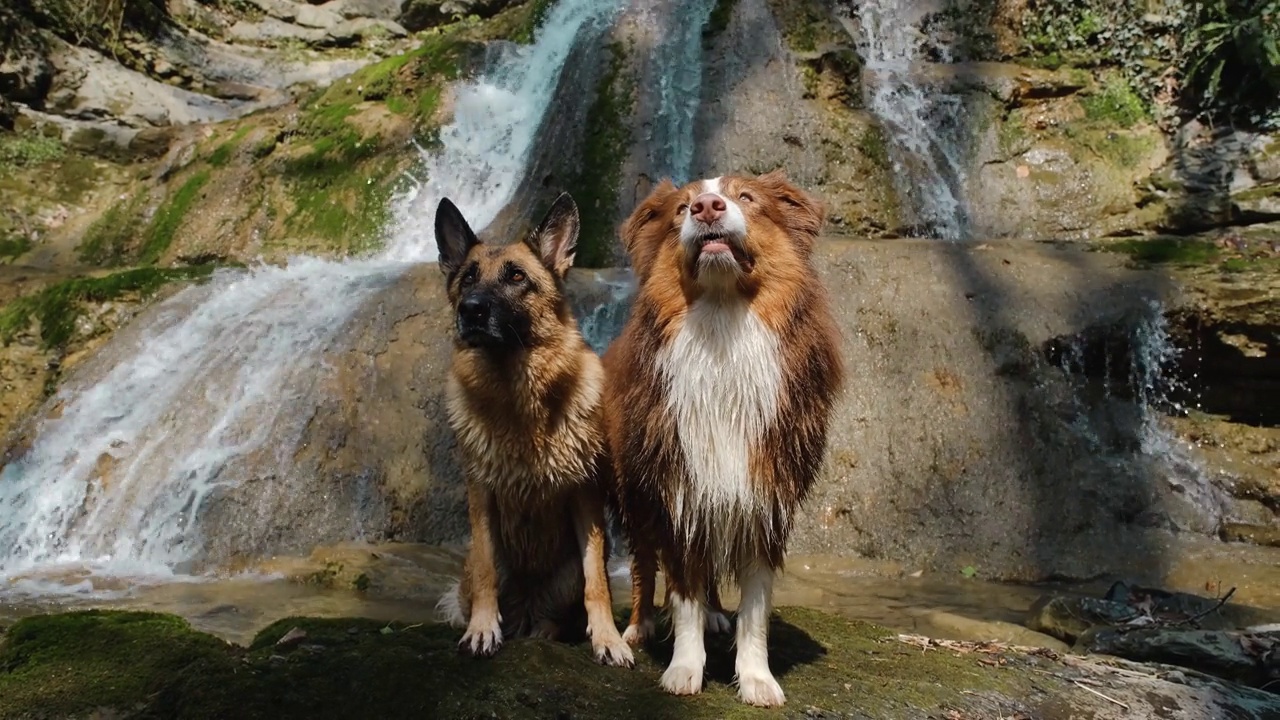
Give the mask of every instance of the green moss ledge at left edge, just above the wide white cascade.
[[166, 283], [205, 277], [211, 272], [210, 265], [136, 268], [110, 275], [63, 281], [0, 307], [0, 341], [8, 345], [32, 320], [37, 320], [41, 345], [46, 348], [63, 347], [74, 334], [76, 320], [84, 313], [86, 302], [106, 302], [125, 295], [145, 297]]

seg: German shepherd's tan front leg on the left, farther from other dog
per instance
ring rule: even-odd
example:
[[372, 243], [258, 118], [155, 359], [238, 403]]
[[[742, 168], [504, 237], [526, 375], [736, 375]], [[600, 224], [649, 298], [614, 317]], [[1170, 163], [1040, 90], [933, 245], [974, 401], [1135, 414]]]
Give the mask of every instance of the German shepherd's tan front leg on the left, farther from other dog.
[[493, 542], [493, 495], [476, 483], [467, 483], [471, 516], [471, 550], [467, 552], [466, 580], [471, 619], [458, 643], [475, 656], [488, 656], [502, 647], [502, 614], [498, 611], [498, 566]]

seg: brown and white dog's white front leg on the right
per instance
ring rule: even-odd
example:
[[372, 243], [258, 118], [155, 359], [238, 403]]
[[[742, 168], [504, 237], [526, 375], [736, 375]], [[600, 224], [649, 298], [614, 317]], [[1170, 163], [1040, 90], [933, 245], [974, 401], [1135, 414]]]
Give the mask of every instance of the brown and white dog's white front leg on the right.
[[748, 553], [739, 569], [742, 600], [737, 606], [737, 697], [749, 705], [777, 707], [786, 702], [769, 671], [769, 612], [773, 606], [773, 566], [763, 555]]

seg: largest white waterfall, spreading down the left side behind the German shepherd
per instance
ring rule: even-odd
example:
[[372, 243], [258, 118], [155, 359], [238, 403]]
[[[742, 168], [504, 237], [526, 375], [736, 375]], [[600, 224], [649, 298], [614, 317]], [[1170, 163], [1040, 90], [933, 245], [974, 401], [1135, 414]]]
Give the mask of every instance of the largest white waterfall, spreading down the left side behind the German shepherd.
[[276, 487], [265, 493], [297, 492], [280, 478], [326, 379], [325, 351], [375, 291], [436, 259], [440, 197], [477, 231], [511, 201], [564, 60], [620, 5], [562, 0], [532, 45], [456, 88], [454, 118], [425, 159], [426, 179], [398, 200], [381, 255], [220, 272], [163, 304], [132, 347], [114, 348], [114, 366], [65, 386], [60, 415], [0, 473], [0, 592], [59, 566], [183, 571], [201, 544], [201, 502], [243, 482], [255, 455], [274, 454]]

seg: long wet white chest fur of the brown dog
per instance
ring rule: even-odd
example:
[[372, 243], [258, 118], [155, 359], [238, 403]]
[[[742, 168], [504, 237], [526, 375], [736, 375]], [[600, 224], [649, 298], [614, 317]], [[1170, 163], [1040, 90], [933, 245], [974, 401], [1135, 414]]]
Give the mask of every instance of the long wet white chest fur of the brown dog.
[[723, 533], [749, 530], [768, 511], [751, 482], [750, 451], [777, 415], [778, 337], [745, 302], [703, 299], [690, 307], [658, 366], [690, 475], [673, 509], [677, 528], [692, 533], [699, 523], [710, 523], [714, 528], [707, 529], [728, 541], [722, 546], [737, 544]]

